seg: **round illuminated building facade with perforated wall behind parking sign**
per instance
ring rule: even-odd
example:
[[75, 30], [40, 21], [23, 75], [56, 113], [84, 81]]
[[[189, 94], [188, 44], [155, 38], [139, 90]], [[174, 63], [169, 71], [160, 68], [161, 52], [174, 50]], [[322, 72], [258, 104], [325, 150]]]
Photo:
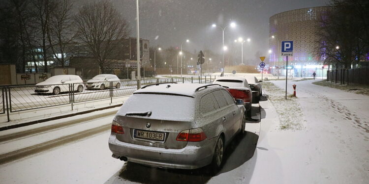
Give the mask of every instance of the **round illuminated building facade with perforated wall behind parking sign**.
[[278, 75], [278, 71], [279, 76], [286, 75], [286, 56], [280, 56], [282, 41], [293, 41], [293, 56], [288, 57], [289, 76], [310, 77], [313, 72], [317, 76], [326, 75], [327, 66], [322, 71], [322, 62], [313, 55], [313, 50], [320, 15], [329, 9], [330, 6], [302, 8], [269, 18], [269, 66], [273, 75]]

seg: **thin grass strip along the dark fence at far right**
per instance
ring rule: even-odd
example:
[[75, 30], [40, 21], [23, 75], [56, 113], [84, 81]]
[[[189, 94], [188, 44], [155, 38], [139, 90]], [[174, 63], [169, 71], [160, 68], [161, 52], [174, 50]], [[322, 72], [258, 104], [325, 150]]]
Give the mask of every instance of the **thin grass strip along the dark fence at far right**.
[[332, 87], [340, 90], [344, 90], [346, 92], [369, 95], [369, 85], [363, 84], [349, 84], [349, 85], [340, 85], [340, 83], [332, 83], [330, 81], [321, 80], [317, 82], [313, 82], [313, 84]]

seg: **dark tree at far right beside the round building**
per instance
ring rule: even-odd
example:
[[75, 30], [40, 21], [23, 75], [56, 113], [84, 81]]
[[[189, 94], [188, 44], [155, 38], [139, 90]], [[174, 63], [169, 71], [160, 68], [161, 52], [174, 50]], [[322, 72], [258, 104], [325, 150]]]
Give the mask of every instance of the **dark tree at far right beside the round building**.
[[330, 11], [321, 15], [314, 53], [324, 64], [351, 68], [369, 52], [368, 19], [362, 16], [368, 10], [363, 4], [368, 6], [363, 0], [332, 0]]

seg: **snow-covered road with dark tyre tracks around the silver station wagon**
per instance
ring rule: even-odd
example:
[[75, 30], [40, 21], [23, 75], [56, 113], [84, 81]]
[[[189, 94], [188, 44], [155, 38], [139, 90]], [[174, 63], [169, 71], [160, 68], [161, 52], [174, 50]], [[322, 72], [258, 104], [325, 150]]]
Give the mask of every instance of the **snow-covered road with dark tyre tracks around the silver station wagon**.
[[[254, 105], [253, 110], [253, 118], [260, 118], [259, 106]], [[242, 182], [245, 178], [244, 170], [249, 165], [252, 166], [249, 160], [254, 154], [259, 137], [258, 122], [248, 124], [247, 134], [234, 139], [225, 152], [224, 167], [213, 178], [202, 169], [160, 169], [112, 158], [107, 144], [110, 129], [93, 132], [78, 137], [77, 140], [70, 139], [71, 136], [78, 135], [78, 132], [91, 131], [93, 127], [110, 124], [114, 111], [117, 108], [1, 131], [0, 163], [4, 163], [0, 165], [1, 183], [233, 183], [235, 177]], [[18, 132], [22, 133], [17, 136]], [[60, 139], [64, 144], [59, 142]], [[47, 145], [44, 146], [43, 143]], [[27, 149], [31, 149], [29, 153], [33, 155], [22, 155], [24, 149], [26, 153]], [[16, 150], [21, 150], [20, 156]], [[20, 158], [7, 158], [5, 153]], [[229, 177], [230, 174], [233, 177]]]

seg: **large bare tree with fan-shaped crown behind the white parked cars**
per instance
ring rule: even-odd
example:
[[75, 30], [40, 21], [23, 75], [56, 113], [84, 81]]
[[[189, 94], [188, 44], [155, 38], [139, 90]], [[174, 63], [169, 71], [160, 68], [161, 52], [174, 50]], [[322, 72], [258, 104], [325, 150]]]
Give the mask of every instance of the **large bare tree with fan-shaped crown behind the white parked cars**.
[[87, 44], [105, 73], [107, 61], [119, 54], [120, 41], [130, 33], [128, 23], [108, 0], [84, 5], [74, 19], [79, 40]]

